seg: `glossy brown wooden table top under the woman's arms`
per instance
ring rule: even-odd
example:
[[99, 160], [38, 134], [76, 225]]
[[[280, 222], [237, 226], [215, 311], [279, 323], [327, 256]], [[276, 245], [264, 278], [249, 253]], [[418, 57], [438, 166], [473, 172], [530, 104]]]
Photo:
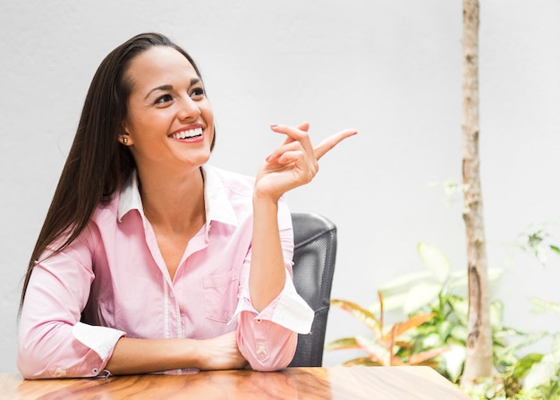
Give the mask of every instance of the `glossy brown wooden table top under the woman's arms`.
[[204, 371], [97, 379], [25, 380], [0, 374], [2, 399], [468, 400], [428, 367], [288, 368]]

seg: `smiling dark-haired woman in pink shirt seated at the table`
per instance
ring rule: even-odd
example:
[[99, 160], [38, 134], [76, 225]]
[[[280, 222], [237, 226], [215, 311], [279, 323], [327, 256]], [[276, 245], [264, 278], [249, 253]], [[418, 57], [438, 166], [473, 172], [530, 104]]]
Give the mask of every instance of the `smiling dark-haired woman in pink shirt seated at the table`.
[[30, 259], [18, 367], [28, 379], [277, 370], [313, 319], [291, 278], [282, 196], [309, 183], [308, 124], [255, 179], [207, 166], [212, 110], [196, 64], [155, 33], [100, 64]]

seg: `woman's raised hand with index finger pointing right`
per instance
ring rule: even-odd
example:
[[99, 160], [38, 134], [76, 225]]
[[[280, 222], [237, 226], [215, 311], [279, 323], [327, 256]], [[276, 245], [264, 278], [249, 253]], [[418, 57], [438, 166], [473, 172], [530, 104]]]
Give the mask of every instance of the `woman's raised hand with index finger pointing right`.
[[275, 149], [259, 167], [255, 191], [259, 196], [278, 200], [286, 191], [310, 183], [318, 172], [318, 160], [342, 140], [356, 134], [345, 129], [321, 141], [317, 147], [311, 144], [309, 123], [297, 127], [270, 125], [273, 132], [286, 136], [284, 143]]

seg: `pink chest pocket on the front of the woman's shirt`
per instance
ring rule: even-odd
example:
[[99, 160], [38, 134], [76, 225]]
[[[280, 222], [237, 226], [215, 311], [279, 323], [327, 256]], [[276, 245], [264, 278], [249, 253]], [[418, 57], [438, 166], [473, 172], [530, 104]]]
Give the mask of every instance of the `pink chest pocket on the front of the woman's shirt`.
[[204, 310], [206, 318], [229, 322], [237, 308], [239, 277], [235, 271], [204, 277]]

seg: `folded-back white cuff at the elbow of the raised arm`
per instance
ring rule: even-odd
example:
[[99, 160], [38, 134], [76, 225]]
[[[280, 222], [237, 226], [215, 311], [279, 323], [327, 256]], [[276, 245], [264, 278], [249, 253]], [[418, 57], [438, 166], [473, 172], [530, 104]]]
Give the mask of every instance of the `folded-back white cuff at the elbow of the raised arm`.
[[275, 300], [270, 302], [262, 311], [257, 311], [250, 302], [249, 285], [242, 287], [242, 293], [237, 304], [237, 309], [229, 323], [236, 320], [242, 311], [249, 311], [255, 314], [255, 319], [265, 319], [272, 321], [293, 332], [307, 335], [310, 333], [311, 324], [315, 318], [313, 311], [305, 300], [303, 300], [295, 290], [292, 277], [286, 270], [286, 281], [284, 289], [278, 294]]

